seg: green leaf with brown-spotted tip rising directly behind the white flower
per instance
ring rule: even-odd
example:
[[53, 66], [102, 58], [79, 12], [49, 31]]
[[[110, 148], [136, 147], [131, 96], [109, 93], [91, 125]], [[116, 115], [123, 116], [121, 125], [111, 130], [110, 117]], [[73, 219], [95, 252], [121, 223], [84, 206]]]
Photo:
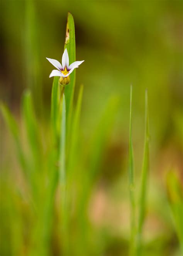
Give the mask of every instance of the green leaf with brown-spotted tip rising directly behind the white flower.
[[[66, 25], [66, 39], [64, 49], [67, 48], [69, 55], [69, 63], [76, 61], [76, 46], [75, 46], [75, 23], [73, 15], [68, 12], [68, 19]], [[65, 86], [65, 100], [66, 100], [66, 120], [67, 126], [70, 126], [71, 113], [73, 107], [73, 97], [75, 91], [75, 80], [76, 80], [76, 70], [74, 70], [70, 75], [71, 81]]]

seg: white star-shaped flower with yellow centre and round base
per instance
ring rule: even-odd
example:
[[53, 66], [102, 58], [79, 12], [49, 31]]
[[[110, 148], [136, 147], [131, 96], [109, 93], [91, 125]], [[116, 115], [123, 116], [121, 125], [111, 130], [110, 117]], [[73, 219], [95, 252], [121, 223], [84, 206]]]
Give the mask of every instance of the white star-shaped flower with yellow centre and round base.
[[83, 63], [83, 61], [75, 61], [72, 64], [69, 65], [69, 56], [67, 49], [65, 49], [63, 56], [62, 56], [62, 65], [57, 61], [56, 59], [49, 59], [46, 58], [54, 67], [57, 68], [57, 70], [52, 70], [49, 77], [52, 76], [60, 76], [60, 83], [63, 85], [66, 85], [69, 83], [70, 78], [69, 75], [73, 72], [75, 68], [78, 68], [78, 66]]

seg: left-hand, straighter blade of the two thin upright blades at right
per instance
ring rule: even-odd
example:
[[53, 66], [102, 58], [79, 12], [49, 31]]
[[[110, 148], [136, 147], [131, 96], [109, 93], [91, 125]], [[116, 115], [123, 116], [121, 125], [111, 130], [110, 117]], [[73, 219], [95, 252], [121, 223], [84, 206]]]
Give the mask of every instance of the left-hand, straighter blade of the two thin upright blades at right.
[[134, 196], [134, 156], [132, 145], [132, 86], [130, 87], [130, 131], [129, 131], [129, 192], [130, 192], [130, 255], [135, 253], [135, 196]]

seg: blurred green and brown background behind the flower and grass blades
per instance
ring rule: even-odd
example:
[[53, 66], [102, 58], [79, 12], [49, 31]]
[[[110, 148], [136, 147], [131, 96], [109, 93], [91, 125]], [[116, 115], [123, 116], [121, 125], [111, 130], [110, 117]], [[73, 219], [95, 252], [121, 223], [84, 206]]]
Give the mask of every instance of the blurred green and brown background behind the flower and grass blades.
[[[102, 230], [101, 236], [105, 237], [103, 255], [127, 255], [130, 85], [137, 197], [146, 88], [149, 98], [146, 255], [178, 255], [165, 178], [172, 169], [182, 178], [182, 5], [179, 0], [1, 1], [0, 95], [20, 123], [25, 88], [32, 90], [40, 122], [44, 125], [49, 120], [53, 81], [49, 74], [53, 68], [46, 57], [61, 60], [68, 11], [75, 19], [76, 60], [85, 60], [76, 70], [76, 95], [80, 84], [84, 85], [80, 125], [83, 140], [87, 142], [93, 134], [111, 95], [119, 97], [115, 125], [88, 210], [91, 224]], [[1, 166], [5, 178], [4, 173], [19, 166], [3, 122], [1, 127]], [[4, 216], [8, 208], [2, 208]], [[8, 229], [8, 222], [4, 222]], [[7, 239], [4, 230], [2, 239]], [[5, 248], [2, 245], [2, 252]]]

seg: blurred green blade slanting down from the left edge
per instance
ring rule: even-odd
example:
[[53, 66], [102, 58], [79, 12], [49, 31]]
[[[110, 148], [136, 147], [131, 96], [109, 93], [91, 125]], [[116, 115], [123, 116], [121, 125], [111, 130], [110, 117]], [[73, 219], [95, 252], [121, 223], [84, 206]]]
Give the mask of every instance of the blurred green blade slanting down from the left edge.
[[9, 128], [15, 142], [16, 146], [16, 153], [19, 159], [20, 166], [22, 167], [22, 170], [26, 172], [26, 161], [25, 161], [25, 156], [24, 156], [24, 151], [22, 149], [21, 141], [20, 141], [20, 130], [17, 125], [16, 120], [8, 110], [8, 108], [1, 103], [0, 104], [0, 109], [3, 115], [3, 118], [7, 124], [7, 127]]

